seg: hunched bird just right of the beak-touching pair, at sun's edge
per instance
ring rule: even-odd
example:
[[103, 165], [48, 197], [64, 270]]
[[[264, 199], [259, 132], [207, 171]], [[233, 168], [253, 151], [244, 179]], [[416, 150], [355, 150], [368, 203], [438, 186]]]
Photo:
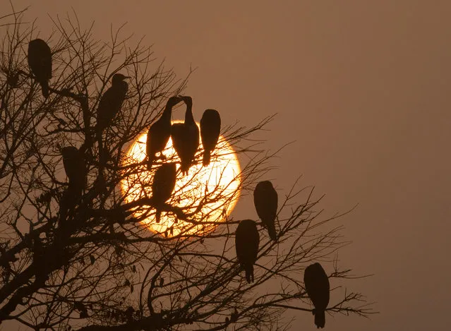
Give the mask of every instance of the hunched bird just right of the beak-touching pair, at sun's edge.
[[210, 164], [212, 150], [215, 150], [217, 140], [220, 138], [221, 116], [215, 109], [207, 109], [200, 119], [200, 138], [203, 145], [203, 165]]

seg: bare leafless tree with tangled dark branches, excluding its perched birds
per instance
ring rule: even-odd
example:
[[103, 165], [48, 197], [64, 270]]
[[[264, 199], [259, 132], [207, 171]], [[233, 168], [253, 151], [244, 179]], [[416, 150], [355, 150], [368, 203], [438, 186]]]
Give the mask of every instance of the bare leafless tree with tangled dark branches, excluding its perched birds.
[[[51, 35], [39, 35], [53, 61], [44, 98], [27, 62], [28, 42], [38, 33], [23, 15], [4, 16], [0, 27], [0, 322], [34, 330], [284, 330], [281, 313], [312, 311], [302, 275], [315, 261], [335, 261], [327, 313], [373, 313], [361, 294], [334, 288], [335, 279], [352, 278], [336, 259], [347, 244], [336, 224], [342, 215], [321, 218], [320, 198], [298, 181], [279, 199], [277, 241], [258, 227], [255, 282], [244, 279], [234, 248], [239, 221], [227, 210], [270, 171], [275, 154], [259, 150], [252, 137], [272, 118], [252, 128], [222, 128], [247, 160], [230, 179], [239, 182], [234, 191], [207, 191], [205, 183], [176, 190], [163, 206], [180, 221], [176, 233], [150, 231], [142, 222], [155, 217], [149, 183], [156, 168], [148, 171], [126, 151], [159, 118], [167, 98], [184, 92], [188, 77], [177, 80], [150, 47], [130, 47], [121, 29], [107, 42], [94, 40], [92, 26], [84, 30], [73, 15], [54, 20]], [[114, 73], [131, 79], [121, 111], [104, 130], [103, 158], [95, 141], [97, 106]], [[78, 148], [85, 162], [80, 197], [68, 195], [66, 146]], [[212, 160], [223, 150], [220, 142]], [[162, 162], [178, 160], [169, 155], [156, 166]], [[196, 162], [202, 164], [201, 150]], [[130, 179], [141, 189], [134, 200], [121, 186]], [[184, 204], [185, 195], [195, 202]], [[217, 201], [222, 217], [211, 219], [203, 208]]]

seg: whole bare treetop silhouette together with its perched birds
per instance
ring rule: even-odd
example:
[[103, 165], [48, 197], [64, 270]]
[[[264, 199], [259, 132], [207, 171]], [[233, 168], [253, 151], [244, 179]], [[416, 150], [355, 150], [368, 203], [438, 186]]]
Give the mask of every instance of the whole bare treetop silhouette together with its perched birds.
[[0, 23], [2, 326], [284, 330], [292, 310], [320, 327], [373, 313], [338, 265], [347, 212], [323, 217], [313, 187], [267, 181], [277, 153], [254, 135], [273, 116], [201, 117], [191, 72], [176, 78], [121, 29], [95, 40], [68, 16], [45, 35], [26, 14]]

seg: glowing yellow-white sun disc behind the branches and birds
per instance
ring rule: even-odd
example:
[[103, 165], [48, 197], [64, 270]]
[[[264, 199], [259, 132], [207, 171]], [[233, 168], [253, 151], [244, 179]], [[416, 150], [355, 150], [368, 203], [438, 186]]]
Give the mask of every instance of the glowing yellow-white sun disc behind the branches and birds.
[[[182, 121], [172, 121], [172, 123], [180, 122]], [[131, 145], [127, 152], [124, 166], [145, 160], [146, 140], [147, 133], [143, 133]], [[164, 234], [165, 236], [203, 234], [212, 231], [217, 226], [216, 223], [224, 222], [239, 198], [238, 188], [241, 169], [233, 148], [231, 148], [231, 145], [227, 143], [224, 137], [220, 136], [217, 147], [212, 152], [210, 164], [208, 167], [203, 167], [203, 146], [200, 143], [196, 156], [198, 164], [193, 165], [186, 176], [183, 176], [179, 171], [180, 158], [172, 147], [172, 139], [169, 139], [169, 143], [163, 153], [167, 160], [157, 160], [153, 164], [152, 171], [147, 171], [145, 166], [143, 166], [143, 171], [138, 171], [138, 174], [130, 174], [121, 181], [126, 203], [145, 198], [146, 196], [152, 196], [153, 174], [162, 162], [169, 162], [170, 160], [170, 162], [177, 163], [177, 181], [174, 194], [167, 203], [183, 208], [185, 214], [193, 214], [188, 219], [202, 222], [203, 224], [194, 225], [191, 222], [177, 220], [172, 212], [162, 212], [160, 223], [157, 223], [155, 222], [155, 209], [148, 206], [136, 209], [134, 216], [139, 218], [148, 214], [149, 216], [141, 221], [142, 224], [151, 231]], [[204, 205], [200, 208], [200, 211], [195, 212], [199, 207], [200, 201], [203, 201]]]

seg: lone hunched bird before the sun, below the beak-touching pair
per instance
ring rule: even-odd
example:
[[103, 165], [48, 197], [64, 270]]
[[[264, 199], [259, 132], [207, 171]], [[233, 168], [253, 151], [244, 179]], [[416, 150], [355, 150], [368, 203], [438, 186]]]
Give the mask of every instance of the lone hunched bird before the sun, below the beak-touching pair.
[[152, 182], [152, 203], [157, 212], [155, 218], [157, 223], [160, 223], [161, 207], [171, 198], [176, 183], [176, 164], [163, 163], [157, 171]]

